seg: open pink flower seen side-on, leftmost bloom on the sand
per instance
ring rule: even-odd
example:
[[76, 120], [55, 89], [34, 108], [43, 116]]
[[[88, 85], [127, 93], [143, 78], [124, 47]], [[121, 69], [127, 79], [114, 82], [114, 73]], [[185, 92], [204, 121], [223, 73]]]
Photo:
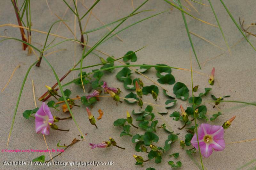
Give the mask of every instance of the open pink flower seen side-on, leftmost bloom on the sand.
[[43, 102], [42, 106], [38, 109], [38, 111], [35, 114], [36, 133], [49, 135], [49, 123], [53, 123], [53, 120], [54, 119], [50, 111], [50, 108]]

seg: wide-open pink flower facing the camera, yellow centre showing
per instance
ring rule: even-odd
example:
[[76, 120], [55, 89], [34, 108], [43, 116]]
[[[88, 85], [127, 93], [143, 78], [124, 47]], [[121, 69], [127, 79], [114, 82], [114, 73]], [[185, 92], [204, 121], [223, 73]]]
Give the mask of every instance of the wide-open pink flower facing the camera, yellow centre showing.
[[[205, 158], [208, 158], [212, 154], [212, 149], [214, 149], [214, 151], [222, 151], [225, 149], [225, 140], [223, 139], [224, 129], [222, 126], [202, 123], [197, 131], [200, 151]], [[190, 142], [198, 149], [196, 133]]]

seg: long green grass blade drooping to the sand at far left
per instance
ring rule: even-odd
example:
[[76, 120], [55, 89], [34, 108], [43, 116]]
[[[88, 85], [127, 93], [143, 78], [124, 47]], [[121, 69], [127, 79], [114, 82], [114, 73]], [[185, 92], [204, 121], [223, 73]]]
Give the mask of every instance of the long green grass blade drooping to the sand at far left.
[[16, 113], [17, 113], [17, 110], [18, 110], [18, 106], [19, 106], [19, 103], [20, 103], [20, 97], [21, 97], [21, 93], [23, 91], [23, 88], [24, 88], [24, 85], [26, 83], [26, 80], [27, 80], [27, 77], [28, 77], [28, 73], [29, 71], [31, 70], [31, 68], [37, 63], [34, 62], [32, 65], [30, 65], [30, 67], [28, 68], [28, 71], [26, 72], [26, 75], [23, 79], [23, 82], [22, 82], [22, 85], [21, 85], [21, 88], [20, 88], [20, 93], [19, 93], [19, 96], [18, 96], [18, 100], [17, 100], [17, 103], [16, 103], [16, 107], [15, 107], [15, 110], [14, 110], [14, 114], [13, 114], [13, 117], [12, 117], [12, 125], [11, 125], [11, 129], [10, 129], [10, 132], [9, 132], [9, 136], [8, 136], [8, 140], [7, 140], [7, 144], [6, 144], [6, 148], [8, 147], [8, 144], [9, 144], [9, 140], [10, 140], [10, 137], [11, 137], [11, 134], [12, 134], [12, 129], [13, 129], [13, 125], [14, 125], [14, 120], [15, 120], [15, 116], [16, 116]]

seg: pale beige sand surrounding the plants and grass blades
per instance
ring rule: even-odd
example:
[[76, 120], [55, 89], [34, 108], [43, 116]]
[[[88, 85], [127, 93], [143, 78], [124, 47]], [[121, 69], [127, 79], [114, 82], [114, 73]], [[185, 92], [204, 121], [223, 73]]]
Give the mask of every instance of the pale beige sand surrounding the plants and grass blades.
[[[139, 6], [143, 1], [134, 1], [134, 7]], [[208, 1], [202, 1], [205, 4], [208, 4]], [[53, 13], [56, 13], [58, 16], [63, 15], [66, 10], [66, 5], [62, 1], [48, 1], [50, 8]], [[231, 18], [229, 18], [227, 12], [219, 1], [212, 1], [214, 4], [215, 11], [219, 16], [220, 24], [223, 28], [225, 36], [227, 38], [228, 44], [233, 46], [237, 41], [239, 41], [243, 36], [239, 30], [234, 25]], [[254, 0], [248, 1], [225, 1], [232, 15], [239, 21], [239, 17], [245, 19], [245, 25], [250, 25], [255, 23], [255, 10], [256, 2]], [[19, 2], [21, 5], [21, 2]], [[87, 6], [91, 6], [93, 1], [85, 1]], [[216, 24], [216, 20], [212, 14], [211, 8], [209, 6], [202, 6], [196, 3], [193, 3], [195, 8], [200, 13], [197, 14], [193, 9], [191, 9], [191, 14], [196, 17], [203, 19], [212, 24]], [[188, 6], [186, 3], [183, 5]], [[120, 28], [124, 28], [140, 19], [153, 15], [157, 12], [168, 10], [170, 6], [164, 1], [149, 1], [146, 3], [141, 10], [155, 9], [156, 11], [143, 12], [139, 15], [136, 15], [132, 18], [129, 18], [124, 22]], [[127, 16], [133, 10], [131, 1], [102, 1], [95, 6], [93, 13], [100, 18], [105, 23], [110, 23], [115, 21], [118, 18]], [[78, 1], [78, 11], [82, 15], [86, 10], [81, 5], [81, 2]], [[36, 30], [41, 30], [48, 32], [49, 27], [52, 23], [58, 18], [49, 11], [47, 4], [44, 0], [41, 1], [31, 1], [31, 21], [32, 28]], [[84, 27], [88, 16], [82, 20], [82, 25]], [[74, 14], [68, 10], [66, 16], [63, 18], [68, 20], [66, 23], [72, 30], [74, 30]], [[254, 102], [256, 92], [254, 90], [256, 84], [255, 78], [255, 51], [253, 48], [246, 42], [242, 40], [239, 44], [231, 49], [231, 55], [225, 53], [218, 58], [212, 59], [209, 62], [207, 61], [217, 55], [224, 53], [227, 50], [225, 42], [221, 36], [220, 30], [217, 27], [209, 26], [198, 20], [186, 16], [189, 30], [193, 33], [199, 34], [204, 38], [212, 41], [217, 44], [224, 50], [217, 48], [204, 40], [191, 35], [196, 53], [198, 55], [198, 60], [202, 65], [202, 70], [199, 69], [194, 55], [192, 55], [192, 67], [195, 71], [200, 71], [202, 73], [210, 75], [212, 67], [215, 67], [215, 84], [210, 86], [208, 84], [208, 77], [200, 74], [194, 73], [194, 85], [199, 85], [198, 92], [195, 95], [198, 95], [200, 92], [204, 92], [204, 88], [212, 87], [210, 94], [214, 94], [217, 97], [231, 95], [228, 100], [238, 100], [246, 102]], [[14, 14], [14, 9], [10, 1], [1, 2], [0, 10], [0, 25], [2, 24], [17, 24], [17, 20]], [[91, 16], [87, 30], [97, 28], [101, 26], [100, 22], [97, 21], [93, 16]], [[56, 33], [58, 24], [52, 28], [52, 33]], [[114, 26], [110, 26], [114, 28]], [[254, 28], [250, 28], [253, 32]], [[107, 32], [107, 29], [102, 29], [94, 33], [89, 33], [89, 42], [88, 44], [92, 46], [95, 44], [103, 35]], [[68, 37], [73, 39], [74, 36], [67, 29], [64, 24], [61, 24], [60, 29], [57, 32], [58, 35]], [[16, 37], [20, 39], [20, 31], [18, 28], [3, 26], [0, 27], [0, 35]], [[190, 43], [186, 34], [186, 29], [180, 11], [173, 9], [172, 11], [165, 12], [161, 15], [158, 15], [154, 18], [150, 18], [140, 24], [137, 24], [124, 32], [118, 34], [123, 42], [118, 40], [116, 37], [113, 37], [111, 40], [100, 45], [97, 49], [106, 52], [109, 55], [115, 57], [123, 56], [127, 51], [137, 50], [143, 46], [146, 46], [143, 50], [137, 52], [138, 60], [136, 64], [168, 64], [169, 66], [181, 67], [181, 68], [190, 68]], [[76, 36], [80, 39], [78, 31], [78, 23], [76, 20]], [[44, 44], [46, 35], [42, 33], [32, 32], [32, 44], [37, 48], [42, 48]], [[49, 42], [53, 40], [53, 36], [49, 37]], [[3, 39], [3, 38], [1, 38]], [[63, 39], [57, 38], [53, 44], [62, 41]], [[249, 40], [253, 45], [256, 44], [255, 37], [250, 36]], [[35, 55], [27, 55], [27, 51], [21, 49], [21, 43], [14, 40], [3, 41], [0, 43], [0, 72], [1, 72], [1, 89], [4, 87], [6, 82], [11, 76], [12, 71], [18, 65], [20, 68], [14, 73], [12, 80], [9, 85], [5, 88], [3, 92], [0, 93], [0, 112], [2, 123], [1, 127], [1, 138], [0, 146], [1, 149], [5, 149], [9, 130], [11, 127], [12, 117], [15, 110], [15, 105], [17, 98], [20, 92], [20, 87], [23, 81], [23, 78], [28, 70], [28, 67], [36, 61]], [[56, 73], [59, 77], [62, 77], [68, 69], [74, 65], [74, 60], [78, 61], [81, 58], [82, 48], [79, 44], [76, 44], [71, 41], [62, 43], [45, 54], [52, 51], [65, 49], [60, 52], [51, 54], [47, 56], [47, 59], [52, 64]], [[76, 49], [76, 53], [74, 53]], [[99, 52], [96, 52], [103, 58], [107, 58], [106, 55], [103, 55]], [[76, 55], [75, 55], [76, 54]], [[83, 62], [84, 66], [97, 64], [100, 60], [95, 55], [88, 55]], [[120, 65], [120, 63], [115, 62], [115, 65]], [[113, 73], [105, 72], [102, 80], [107, 81], [109, 86], [119, 87], [122, 90], [120, 96], [124, 97], [129, 93], [125, 90], [122, 82], [118, 81], [115, 78], [116, 73], [121, 69], [116, 69]], [[91, 71], [90, 69], [86, 71]], [[79, 71], [70, 73], [67, 78], [62, 82], [62, 84], [67, 83], [77, 77]], [[156, 70], [152, 68], [145, 75], [149, 78], [152, 78], [154, 81], [157, 80]], [[176, 82], [183, 82], [185, 85], [191, 89], [191, 76], [190, 72], [175, 70], [172, 69], [172, 74], [175, 77]], [[134, 73], [132, 78], [142, 78], [144, 85], [152, 85], [153, 83], [148, 79]], [[8, 149], [38, 149], [45, 150], [46, 145], [42, 134], [35, 133], [35, 124], [34, 120], [26, 120], [22, 113], [27, 109], [35, 108], [35, 103], [33, 100], [32, 92], [32, 83], [35, 84], [35, 95], [36, 95], [36, 104], [41, 106], [42, 102], [37, 99], [46, 91], [44, 85], [53, 85], [56, 83], [56, 79], [52, 73], [52, 70], [46, 64], [45, 61], [42, 61], [41, 66], [33, 67], [28, 75], [26, 84], [24, 86], [20, 104], [18, 107], [17, 115], [15, 118], [15, 123], [12, 131], [12, 136], [10, 138], [10, 143]], [[163, 85], [164, 88], [167, 88], [172, 92], [173, 85]], [[87, 87], [87, 86], [86, 86]], [[72, 84], [64, 89], [72, 90], [71, 97], [76, 97], [76, 95], [83, 96], [83, 90], [79, 86]], [[88, 90], [88, 88], [86, 89]], [[164, 105], [164, 102], [167, 98], [162, 93], [162, 88], [159, 87], [159, 97], [157, 104]], [[191, 90], [189, 91], [191, 96]], [[203, 98], [203, 103], [207, 106], [208, 112], [207, 116], [210, 118], [212, 114], [218, 112], [217, 108], [212, 108], [212, 103], [209, 103], [211, 99], [210, 95]], [[53, 98], [51, 98], [53, 100]], [[150, 95], [143, 96], [143, 100], [155, 103]], [[49, 101], [49, 100], [48, 100]], [[79, 101], [77, 103], [80, 104]], [[178, 99], [176, 107], [169, 109], [167, 115], [159, 115], [157, 112], [165, 110], [163, 107], [154, 107], [154, 113], [156, 113], [156, 119], [159, 121], [158, 125], [166, 123], [170, 129], [174, 130], [174, 133], [180, 133], [179, 140], [184, 140], [186, 131], [178, 130], [182, 124], [181, 122], [173, 121], [169, 115], [179, 109], [179, 105], [182, 104], [183, 107], [188, 107], [189, 103], [187, 101], [181, 101]], [[143, 108], [147, 105], [144, 104]], [[232, 123], [231, 127], [225, 130], [225, 141], [227, 143], [241, 141], [245, 139], [255, 138], [255, 109], [253, 106], [241, 107], [244, 105], [236, 103], [221, 103], [219, 105], [220, 112], [222, 113], [214, 122], [208, 122], [210, 124], [222, 125], [223, 122], [227, 121], [233, 115], [236, 115], [235, 121]], [[54, 161], [113, 161], [113, 166], [87, 166], [86, 169], [146, 169], [148, 167], [154, 167], [156, 169], [170, 169], [171, 166], [168, 165], [168, 161], [173, 160], [174, 162], [181, 161], [182, 167], [180, 169], [198, 169], [200, 167], [200, 159], [198, 152], [193, 155], [193, 159], [189, 158], [185, 150], [181, 150], [179, 147], [179, 142], [176, 142], [172, 145], [172, 148], [164, 153], [162, 162], [156, 164], [154, 160], [144, 163], [144, 167], [136, 166], [135, 159], [132, 157], [133, 154], [141, 155], [144, 159], [147, 159], [147, 155], [142, 152], [138, 153], [134, 150], [135, 144], [131, 142], [131, 137], [124, 136], [119, 137], [122, 128], [114, 127], [113, 122], [117, 118], [125, 118], [126, 111], [132, 112], [133, 109], [138, 110], [139, 107], [135, 105], [128, 105], [123, 102], [116, 106], [114, 100], [109, 100], [109, 98], [101, 98], [100, 102], [92, 108], [92, 113], [95, 117], [98, 117], [98, 109], [103, 110], [104, 115], [101, 120], [97, 121], [98, 129], [95, 129], [94, 126], [90, 125], [87, 119], [87, 114], [85, 112], [85, 107], [80, 108], [74, 107], [72, 109], [76, 121], [81, 128], [83, 134], [88, 133], [85, 137], [85, 140], [78, 142], [72, 147], [68, 148], [61, 156], [58, 156]], [[54, 109], [52, 114], [59, 117], [67, 117], [68, 114], [62, 112], [57, 112]], [[133, 116], [134, 120], [136, 116]], [[135, 122], [135, 121], [134, 121]], [[199, 121], [199, 123], [204, 121]], [[193, 122], [194, 123], [194, 122]], [[79, 132], [72, 120], [63, 121], [56, 123], [59, 128], [70, 129], [69, 132], [60, 132], [51, 130], [50, 135], [46, 136], [46, 141], [49, 149], [59, 149], [56, 144], [59, 140], [61, 144], [70, 144], [71, 141], [78, 137]], [[138, 125], [137, 122], [134, 123]], [[144, 134], [143, 130], [137, 130], [131, 127], [131, 133], [135, 135]], [[164, 146], [164, 141], [167, 139], [168, 133], [164, 132], [163, 129], [157, 129], [157, 135], [159, 136], [158, 146]], [[107, 149], [96, 148], [91, 150], [88, 142], [91, 143], [100, 143], [104, 140], [108, 140], [109, 137], [112, 137], [116, 140], [117, 144], [125, 147], [125, 150], [118, 149], [116, 147], [109, 147]], [[207, 169], [236, 169], [244, 165], [246, 162], [254, 159], [256, 157], [255, 152], [255, 141], [244, 142], [244, 143], [235, 143], [235, 144], [226, 144], [226, 149], [221, 152], [213, 152], [210, 158], [203, 158], [204, 166]], [[191, 146], [190, 146], [191, 147]], [[180, 156], [178, 159], [169, 158], [169, 154], [174, 152], [179, 152]], [[30, 153], [1, 153], [0, 155], [0, 167], [1, 169], [60, 169], [64, 168], [63, 166], [4, 166], [4, 161], [31, 161], [32, 159], [45, 155], [45, 159], [49, 160], [48, 153], [39, 153], [39, 152], [30, 152]], [[52, 153], [52, 156], [56, 153]], [[194, 161], [193, 161], [194, 160]], [[199, 167], [198, 167], [199, 166]], [[246, 168], [254, 167], [255, 163], [247, 166]], [[78, 169], [77, 166], [66, 166], [67, 169]], [[84, 168], [79, 166], [79, 168]]]

